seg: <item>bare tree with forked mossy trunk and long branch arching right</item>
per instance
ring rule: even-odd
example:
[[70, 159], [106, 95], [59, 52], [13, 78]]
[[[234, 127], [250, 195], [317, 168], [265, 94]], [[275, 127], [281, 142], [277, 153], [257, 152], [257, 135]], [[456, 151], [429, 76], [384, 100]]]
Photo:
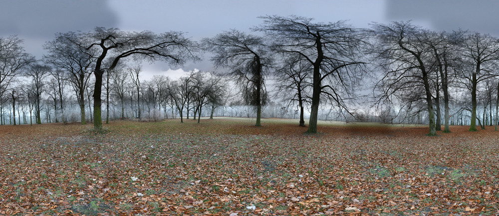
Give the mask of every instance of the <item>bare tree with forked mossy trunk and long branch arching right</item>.
[[92, 71], [95, 77], [94, 129], [102, 130], [101, 92], [102, 77], [106, 70], [112, 70], [122, 59], [164, 60], [172, 65], [187, 60], [197, 60], [198, 46], [182, 32], [156, 34], [151, 31], [128, 32], [118, 28], [96, 27], [93, 31], [76, 34], [72, 41], [81, 51], [95, 61]]

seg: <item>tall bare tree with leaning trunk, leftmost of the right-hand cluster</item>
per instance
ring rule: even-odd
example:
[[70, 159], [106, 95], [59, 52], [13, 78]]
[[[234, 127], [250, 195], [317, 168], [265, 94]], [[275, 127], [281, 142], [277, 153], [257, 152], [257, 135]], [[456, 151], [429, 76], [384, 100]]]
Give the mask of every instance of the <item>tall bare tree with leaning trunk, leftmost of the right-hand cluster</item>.
[[376, 85], [381, 86], [381, 97], [389, 99], [404, 90], [417, 90], [420, 99], [426, 100], [430, 136], [436, 135], [435, 112], [432, 101], [431, 72], [436, 64], [432, 58], [433, 49], [425, 42], [425, 35], [419, 26], [410, 22], [373, 23], [371, 33], [375, 36], [374, 59], [385, 69]]

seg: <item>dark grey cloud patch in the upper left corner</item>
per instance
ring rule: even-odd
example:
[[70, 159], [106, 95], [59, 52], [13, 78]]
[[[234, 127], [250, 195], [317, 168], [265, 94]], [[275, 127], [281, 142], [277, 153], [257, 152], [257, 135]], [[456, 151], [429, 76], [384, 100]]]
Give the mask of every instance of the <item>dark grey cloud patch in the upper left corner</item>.
[[52, 37], [56, 32], [114, 27], [118, 18], [103, 0], [11, 0], [0, 6], [0, 35]]

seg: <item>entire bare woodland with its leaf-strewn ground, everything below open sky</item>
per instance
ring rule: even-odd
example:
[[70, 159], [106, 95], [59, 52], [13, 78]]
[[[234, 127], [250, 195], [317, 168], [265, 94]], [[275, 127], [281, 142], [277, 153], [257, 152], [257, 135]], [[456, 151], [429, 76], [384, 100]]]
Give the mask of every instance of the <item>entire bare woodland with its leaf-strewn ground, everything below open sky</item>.
[[0, 37], [0, 215], [499, 214], [499, 38], [259, 18]]

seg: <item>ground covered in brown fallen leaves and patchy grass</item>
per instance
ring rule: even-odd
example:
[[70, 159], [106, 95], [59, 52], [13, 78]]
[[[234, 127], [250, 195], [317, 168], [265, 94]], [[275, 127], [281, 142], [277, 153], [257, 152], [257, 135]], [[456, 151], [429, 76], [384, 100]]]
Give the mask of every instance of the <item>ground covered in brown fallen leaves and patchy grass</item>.
[[296, 120], [0, 126], [0, 215], [496, 215], [499, 132]]

